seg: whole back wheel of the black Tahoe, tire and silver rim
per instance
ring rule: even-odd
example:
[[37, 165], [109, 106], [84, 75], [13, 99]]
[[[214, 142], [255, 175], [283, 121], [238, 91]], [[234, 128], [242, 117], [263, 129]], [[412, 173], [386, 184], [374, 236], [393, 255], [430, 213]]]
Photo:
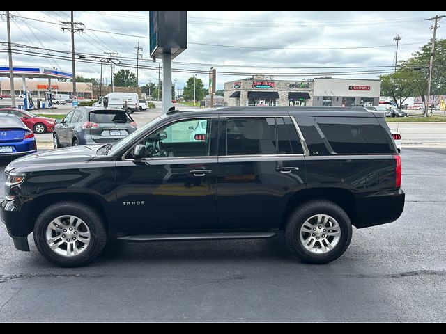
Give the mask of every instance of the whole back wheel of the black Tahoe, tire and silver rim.
[[289, 216], [285, 239], [300, 260], [324, 264], [344, 254], [352, 237], [348, 214], [328, 200], [314, 200]]

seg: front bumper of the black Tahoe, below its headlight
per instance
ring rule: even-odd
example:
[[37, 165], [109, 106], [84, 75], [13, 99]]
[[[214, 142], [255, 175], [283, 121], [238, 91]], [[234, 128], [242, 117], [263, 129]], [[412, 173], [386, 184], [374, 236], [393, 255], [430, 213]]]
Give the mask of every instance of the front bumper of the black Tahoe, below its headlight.
[[28, 234], [29, 226], [26, 223], [25, 212], [15, 205], [14, 201], [0, 203], [0, 219], [6, 225], [6, 231], [13, 238], [14, 246], [18, 250], [29, 252]]

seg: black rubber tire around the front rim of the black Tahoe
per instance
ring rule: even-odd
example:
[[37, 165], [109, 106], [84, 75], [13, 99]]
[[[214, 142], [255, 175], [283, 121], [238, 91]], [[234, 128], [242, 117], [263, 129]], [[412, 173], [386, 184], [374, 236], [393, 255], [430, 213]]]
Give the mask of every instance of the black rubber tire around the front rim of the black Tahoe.
[[[62, 256], [54, 252], [46, 241], [46, 230], [54, 218], [63, 215], [73, 215], [81, 218], [89, 227], [91, 241], [87, 248], [78, 255]], [[58, 202], [47, 207], [38, 216], [34, 225], [34, 242], [40, 254], [47, 260], [61, 267], [79, 267], [95, 259], [107, 243], [107, 232], [104, 222], [98, 212], [79, 202]]]

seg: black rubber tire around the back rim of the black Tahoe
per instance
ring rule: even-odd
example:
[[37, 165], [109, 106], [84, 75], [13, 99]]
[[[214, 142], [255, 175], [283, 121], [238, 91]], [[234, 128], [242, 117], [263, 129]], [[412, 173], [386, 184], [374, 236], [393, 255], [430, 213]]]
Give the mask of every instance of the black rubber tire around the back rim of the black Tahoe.
[[[327, 214], [336, 219], [341, 230], [337, 245], [328, 253], [316, 254], [307, 250], [300, 241], [300, 228], [310, 217], [316, 214]], [[351, 221], [348, 214], [339, 205], [328, 200], [312, 200], [301, 205], [289, 216], [285, 228], [286, 244], [296, 257], [303, 262], [324, 264], [336, 260], [344, 254], [352, 237]]]

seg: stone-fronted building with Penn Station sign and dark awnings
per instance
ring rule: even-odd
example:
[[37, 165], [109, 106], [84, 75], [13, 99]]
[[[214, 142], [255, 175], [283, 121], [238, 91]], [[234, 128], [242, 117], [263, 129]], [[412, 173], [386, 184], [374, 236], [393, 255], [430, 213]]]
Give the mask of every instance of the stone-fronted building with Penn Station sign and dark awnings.
[[311, 106], [313, 88], [313, 79], [274, 80], [273, 77], [255, 75], [226, 82], [224, 101], [228, 106]]

